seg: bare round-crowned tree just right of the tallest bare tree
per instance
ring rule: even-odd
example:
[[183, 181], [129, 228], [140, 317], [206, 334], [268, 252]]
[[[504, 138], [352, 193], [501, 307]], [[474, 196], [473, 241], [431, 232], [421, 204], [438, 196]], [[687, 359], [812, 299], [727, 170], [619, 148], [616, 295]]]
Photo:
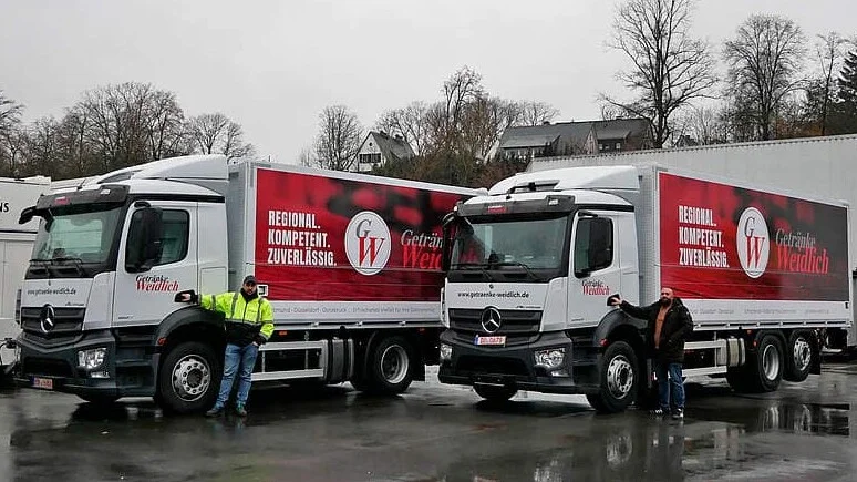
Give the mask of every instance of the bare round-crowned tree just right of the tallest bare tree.
[[748, 102], [741, 110], [753, 119], [757, 139], [773, 139], [777, 110], [802, 83], [804, 52], [801, 28], [778, 16], [750, 17], [726, 42], [727, 94]]

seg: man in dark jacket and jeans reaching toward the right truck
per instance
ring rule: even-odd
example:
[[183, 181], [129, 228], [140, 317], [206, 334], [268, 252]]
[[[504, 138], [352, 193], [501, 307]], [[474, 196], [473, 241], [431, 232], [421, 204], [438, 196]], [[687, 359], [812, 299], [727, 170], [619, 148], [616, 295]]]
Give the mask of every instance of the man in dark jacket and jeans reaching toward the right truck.
[[681, 299], [675, 297], [672, 288], [661, 288], [661, 298], [649, 306], [633, 306], [619, 296], [612, 297], [610, 304], [634, 318], [649, 322], [646, 340], [654, 365], [654, 373], [658, 376], [660, 401], [660, 407], [653, 411], [654, 414], [668, 413], [670, 396], [672, 396], [672, 404], [675, 409], [672, 417], [684, 418], [682, 363], [684, 362], [684, 340], [693, 330], [690, 311]]

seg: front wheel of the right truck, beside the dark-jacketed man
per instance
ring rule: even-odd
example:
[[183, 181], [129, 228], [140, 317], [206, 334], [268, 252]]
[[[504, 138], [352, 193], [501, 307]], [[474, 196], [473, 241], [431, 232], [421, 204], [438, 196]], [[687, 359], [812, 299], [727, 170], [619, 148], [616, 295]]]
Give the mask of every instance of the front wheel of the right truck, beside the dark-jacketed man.
[[601, 356], [600, 389], [587, 396], [589, 404], [600, 413], [621, 412], [637, 399], [640, 384], [637, 353], [624, 341], [615, 341]]

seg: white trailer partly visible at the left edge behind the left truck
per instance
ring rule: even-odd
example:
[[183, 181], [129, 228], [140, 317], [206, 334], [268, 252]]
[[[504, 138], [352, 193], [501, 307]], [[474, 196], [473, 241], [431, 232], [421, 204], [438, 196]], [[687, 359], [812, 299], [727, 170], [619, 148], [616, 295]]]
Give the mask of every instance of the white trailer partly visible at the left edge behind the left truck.
[[[30, 264], [39, 222], [18, 224], [18, 216], [50, 189], [49, 177], [0, 178], [0, 342], [21, 331], [14, 321], [16, 302]], [[0, 365], [9, 365], [14, 351], [0, 348]]]

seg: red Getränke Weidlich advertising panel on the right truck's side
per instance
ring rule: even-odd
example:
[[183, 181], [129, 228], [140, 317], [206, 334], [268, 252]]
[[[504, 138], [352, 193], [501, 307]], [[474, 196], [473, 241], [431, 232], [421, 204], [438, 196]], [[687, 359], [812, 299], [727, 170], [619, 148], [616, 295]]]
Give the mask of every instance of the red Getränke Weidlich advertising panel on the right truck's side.
[[661, 284], [696, 299], [848, 301], [848, 213], [660, 173]]

